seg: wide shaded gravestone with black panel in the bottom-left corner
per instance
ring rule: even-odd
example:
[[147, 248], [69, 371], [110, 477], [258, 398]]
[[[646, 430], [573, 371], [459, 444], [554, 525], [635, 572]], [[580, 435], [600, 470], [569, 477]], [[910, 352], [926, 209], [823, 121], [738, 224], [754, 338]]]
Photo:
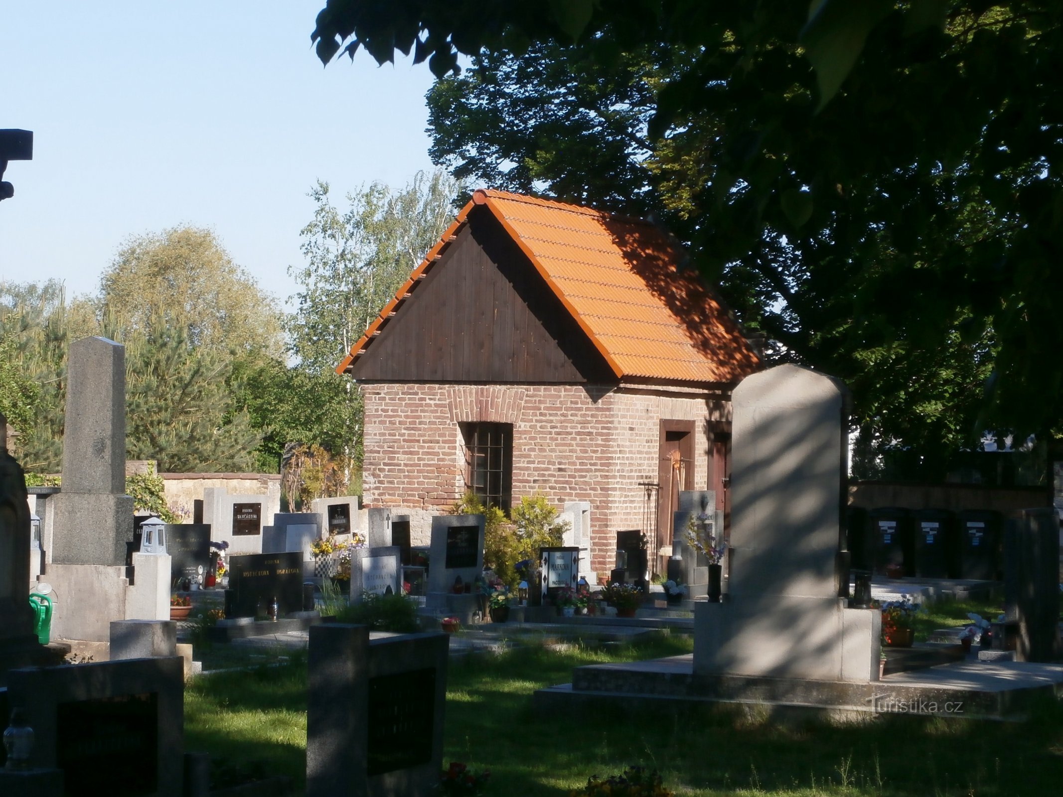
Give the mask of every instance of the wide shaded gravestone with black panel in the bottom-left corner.
[[7, 699], [33, 728], [31, 764], [77, 794], [182, 797], [181, 657], [15, 669]]

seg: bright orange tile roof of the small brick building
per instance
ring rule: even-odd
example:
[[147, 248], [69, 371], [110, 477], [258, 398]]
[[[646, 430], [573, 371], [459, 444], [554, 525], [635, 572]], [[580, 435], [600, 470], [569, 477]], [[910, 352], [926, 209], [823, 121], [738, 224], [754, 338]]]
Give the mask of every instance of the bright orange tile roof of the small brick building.
[[618, 378], [735, 383], [760, 366], [738, 324], [649, 222], [477, 190], [451, 228], [336, 369], [354, 357], [438, 260], [470, 210], [485, 205], [605, 357]]

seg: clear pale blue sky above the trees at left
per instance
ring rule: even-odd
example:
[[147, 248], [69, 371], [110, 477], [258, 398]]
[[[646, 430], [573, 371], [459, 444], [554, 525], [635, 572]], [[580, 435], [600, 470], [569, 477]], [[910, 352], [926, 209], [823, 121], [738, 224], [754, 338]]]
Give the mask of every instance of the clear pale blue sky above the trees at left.
[[426, 64], [321, 67], [324, 0], [5, 2], [0, 128], [34, 132], [0, 203], [0, 279], [95, 293], [124, 238], [190, 223], [284, 300], [317, 179], [431, 169]]

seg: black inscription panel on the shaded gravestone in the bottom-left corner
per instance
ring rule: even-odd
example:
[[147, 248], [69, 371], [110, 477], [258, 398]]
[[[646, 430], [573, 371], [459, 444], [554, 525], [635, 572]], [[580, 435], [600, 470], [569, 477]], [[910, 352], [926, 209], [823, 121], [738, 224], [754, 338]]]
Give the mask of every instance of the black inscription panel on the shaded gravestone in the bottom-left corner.
[[67, 774], [67, 794], [155, 794], [157, 731], [156, 693], [60, 703], [55, 758]]

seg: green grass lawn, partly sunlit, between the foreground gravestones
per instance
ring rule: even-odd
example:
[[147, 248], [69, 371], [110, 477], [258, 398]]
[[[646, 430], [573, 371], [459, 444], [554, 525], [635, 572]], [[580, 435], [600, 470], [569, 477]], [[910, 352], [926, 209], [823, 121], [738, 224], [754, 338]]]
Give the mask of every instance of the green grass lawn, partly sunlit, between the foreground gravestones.
[[[984, 604], [939, 604], [927, 629], [960, 624]], [[629, 764], [659, 768], [684, 797], [1044, 797], [1063, 782], [1063, 710], [1046, 703], [1018, 723], [879, 717], [849, 726], [778, 726], [756, 712], [698, 717], [657, 710], [541, 718], [532, 693], [571, 680], [572, 668], [690, 650], [689, 638], [639, 647], [518, 648], [451, 662], [444, 761], [490, 768], [489, 795], [563, 797], [591, 775]], [[190, 750], [302, 785], [305, 660], [202, 678], [186, 692]]]

